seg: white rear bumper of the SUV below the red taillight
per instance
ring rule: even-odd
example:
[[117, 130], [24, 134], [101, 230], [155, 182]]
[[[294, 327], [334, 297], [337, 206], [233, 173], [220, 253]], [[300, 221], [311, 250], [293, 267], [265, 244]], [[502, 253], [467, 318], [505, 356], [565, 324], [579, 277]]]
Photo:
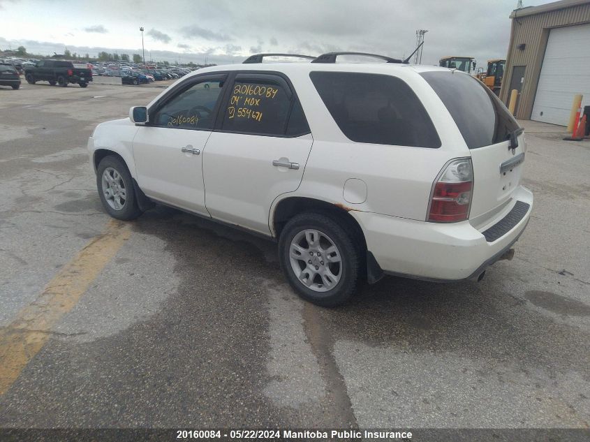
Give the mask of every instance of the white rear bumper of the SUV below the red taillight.
[[509, 216], [517, 201], [529, 205], [528, 210], [491, 242], [486, 240], [485, 230], [475, 229], [469, 221], [439, 224], [369, 212], [349, 213], [360, 224], [367, 249], [383, 272], [429, 281], [458, 281], [478, 277], [524, 231], [533, 209], [533, 194], [521, 186], [513, 198], [498, 221]]

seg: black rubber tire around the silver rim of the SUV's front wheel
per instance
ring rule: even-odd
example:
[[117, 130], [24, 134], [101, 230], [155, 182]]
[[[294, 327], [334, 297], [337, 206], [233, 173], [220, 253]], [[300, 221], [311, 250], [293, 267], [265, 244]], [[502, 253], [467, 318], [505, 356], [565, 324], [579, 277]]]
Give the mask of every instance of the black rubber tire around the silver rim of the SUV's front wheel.
[[[123, 180], [124, 189], [126, 190], [126, 200], [123, 207], [119, 210], [110, 206], [105, 197], [105, 193], [103, 192], [103, 173], [108, 168], [112, 168], [117, 171]], [[98, 189], [98, 196], [100, 196], [101, 202], [103, 203], [103, 207], [113, 218], [129, 221], [142, 214], [142, 211], [138, 207], [137, 196], [135, 196], [135, 188], [133, 187], [133, 179], [131, 178], [131, 174], [127, 170], [125, 163], [116, 156], [105, 156], [105, 158], [103, 158], [101, 162], [98, 163], [98, 168], [96, 170], [96, 187]]]

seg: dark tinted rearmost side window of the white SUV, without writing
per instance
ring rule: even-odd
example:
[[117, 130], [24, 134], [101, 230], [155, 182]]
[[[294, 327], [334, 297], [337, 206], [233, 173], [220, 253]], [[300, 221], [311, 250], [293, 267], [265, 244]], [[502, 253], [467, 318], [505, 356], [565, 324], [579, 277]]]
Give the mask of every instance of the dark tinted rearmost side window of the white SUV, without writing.
[[441, 147], [411, 87], [391, 75], [312, 72], [327, 110], [347, 138], [380, 145]]

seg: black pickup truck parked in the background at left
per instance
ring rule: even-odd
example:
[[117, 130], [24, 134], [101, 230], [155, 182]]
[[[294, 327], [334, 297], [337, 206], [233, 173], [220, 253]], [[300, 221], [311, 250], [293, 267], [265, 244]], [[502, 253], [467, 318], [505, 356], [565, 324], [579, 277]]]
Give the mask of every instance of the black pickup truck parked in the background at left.
[[66, 87], [70, 83], [78, 83], [80, 87], [87, 87], [88, 82], [92, 81], [92, 71], [78, 66], [82, 65], [71, 61], [41, 60], [34, 67], [24, 70], [24, 79], [29, 84], [47, 81], [52, 86], [59, 84]]

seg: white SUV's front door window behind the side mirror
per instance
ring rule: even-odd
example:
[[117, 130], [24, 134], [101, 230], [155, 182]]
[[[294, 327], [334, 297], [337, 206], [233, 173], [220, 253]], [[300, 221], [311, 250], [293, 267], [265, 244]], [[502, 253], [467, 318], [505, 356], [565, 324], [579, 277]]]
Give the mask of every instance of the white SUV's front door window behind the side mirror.
[[165, 103], [156, 112], [154, 125], [183, 128], [211, 129], [215, 105], [219, 100], [223, 80], [204, 80]]

